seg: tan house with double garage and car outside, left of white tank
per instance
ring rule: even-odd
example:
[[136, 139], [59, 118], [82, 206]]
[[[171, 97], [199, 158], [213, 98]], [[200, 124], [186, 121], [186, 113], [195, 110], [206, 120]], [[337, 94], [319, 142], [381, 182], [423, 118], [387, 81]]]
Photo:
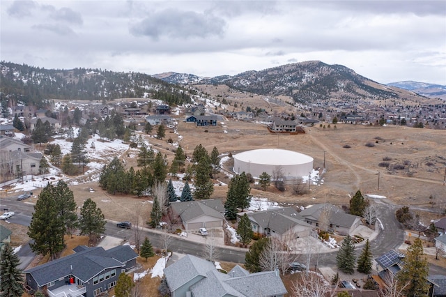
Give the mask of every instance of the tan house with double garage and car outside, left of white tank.
[[220, 199], [171, 202], [171, 213], [186, 230], [223, 227], [224, 206]]

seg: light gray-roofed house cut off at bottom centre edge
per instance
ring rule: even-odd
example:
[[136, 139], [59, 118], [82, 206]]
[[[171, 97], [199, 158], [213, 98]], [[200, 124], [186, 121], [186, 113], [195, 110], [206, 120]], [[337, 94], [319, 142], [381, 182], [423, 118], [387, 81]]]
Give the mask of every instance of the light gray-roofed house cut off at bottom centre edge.
[[164, 275], [172, 297], [279, 297], [287, 293], [276, 271], [249, 273], [237, 265], [221, 273], [212, 262], [190, 254], [164, 268]]

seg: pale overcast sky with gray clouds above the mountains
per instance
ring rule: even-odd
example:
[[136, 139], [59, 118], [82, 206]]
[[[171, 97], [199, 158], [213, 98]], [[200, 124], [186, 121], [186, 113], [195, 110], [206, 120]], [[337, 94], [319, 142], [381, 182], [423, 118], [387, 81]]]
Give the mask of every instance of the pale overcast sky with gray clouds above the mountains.
[[446, 1], [4, 1], [1, 60], [204, 77], [341, 64], [446, 85]]

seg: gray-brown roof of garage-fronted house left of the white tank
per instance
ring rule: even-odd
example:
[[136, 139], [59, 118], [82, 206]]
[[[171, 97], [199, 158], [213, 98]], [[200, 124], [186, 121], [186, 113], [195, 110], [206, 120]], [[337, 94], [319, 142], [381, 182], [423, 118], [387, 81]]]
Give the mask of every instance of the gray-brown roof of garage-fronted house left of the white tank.
[[[209, 203], [210, 206], [215, 206], [215, 208], [220, 209], [220, 206], [217, 206], [218, 202], [215, 201], [213, 203]], [[222, 204], [222, 201], [220, 201]], [[203, 201], [183, 201], [183, 202], [171, 202], [172, 210], [180, 215], [181, 219], [184, 222], [189, 222], [190, 220], [194, 220], [194, 218], [199, 218], [201, 215], [209, 215], [210, 217], [224, 219], [224, 216], [220, 211], [216, 211], [214, 208], [211, 208], [203, 203]], [[223, 207], [223, 206], [222, 206]], [[223, 207], [224, 208], [224, 207]]]

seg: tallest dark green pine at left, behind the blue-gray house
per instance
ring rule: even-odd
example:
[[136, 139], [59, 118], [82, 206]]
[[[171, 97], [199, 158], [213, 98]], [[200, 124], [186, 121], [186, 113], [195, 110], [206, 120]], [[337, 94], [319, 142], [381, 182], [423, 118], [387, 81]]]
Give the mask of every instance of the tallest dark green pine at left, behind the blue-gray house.
[[33, 243], [29, 243], [33, 252], [43, 256], [49, 254], [51, 259], [56, 259], [64, 248], [65, 227], [53, 193], [54, 186], [51, 184], [40, 192], [27, 234], [33, 239]]

